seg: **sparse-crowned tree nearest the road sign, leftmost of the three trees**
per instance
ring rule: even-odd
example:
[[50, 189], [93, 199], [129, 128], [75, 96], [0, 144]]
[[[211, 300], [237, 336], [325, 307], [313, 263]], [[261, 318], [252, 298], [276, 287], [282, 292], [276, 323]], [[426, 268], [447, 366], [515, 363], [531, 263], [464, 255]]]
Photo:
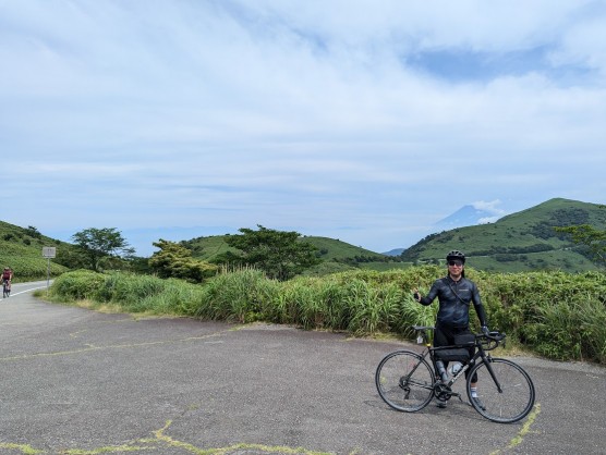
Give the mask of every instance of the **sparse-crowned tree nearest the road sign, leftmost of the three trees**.
[[92, 270], [99, 270], [104, 260], [130, 258], [135, 251], [116, 228], [85, 229], [72, 235], [72, 239]]

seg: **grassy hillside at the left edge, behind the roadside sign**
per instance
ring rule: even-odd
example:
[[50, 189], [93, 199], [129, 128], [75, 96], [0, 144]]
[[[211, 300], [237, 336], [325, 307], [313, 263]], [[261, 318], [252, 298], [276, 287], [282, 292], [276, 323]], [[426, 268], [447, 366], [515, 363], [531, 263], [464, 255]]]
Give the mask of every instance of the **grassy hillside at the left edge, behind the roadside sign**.
[[[44, 279], [48, 260], [43, 258], [43, 247], [53, 246], [57, 255], [66, 253], [71, 245], [41, 235], [35, 228], [20, 228], [0, 221], [0, 268], [10, 267], [15, 281]], [[57, 276], [68, 269], [50, 261], [50, 274]]]

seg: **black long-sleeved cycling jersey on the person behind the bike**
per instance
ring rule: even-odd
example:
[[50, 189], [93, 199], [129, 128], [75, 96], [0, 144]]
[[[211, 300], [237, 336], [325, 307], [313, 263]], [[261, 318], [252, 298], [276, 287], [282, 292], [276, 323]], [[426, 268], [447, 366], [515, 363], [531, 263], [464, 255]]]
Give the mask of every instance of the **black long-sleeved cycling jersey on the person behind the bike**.
[[480, 292], [473, 281], [466, 278], [455, 281], [450, 276], [436, 280], [429, 293], [421, 298], [421, 304], [429, 305], [436, 297], [439, 300], [436, 325], [460, 329], [469, 327], [470, 304], [473, 304], [481, 325], [487, 325], [486, 312], [480, 298]]

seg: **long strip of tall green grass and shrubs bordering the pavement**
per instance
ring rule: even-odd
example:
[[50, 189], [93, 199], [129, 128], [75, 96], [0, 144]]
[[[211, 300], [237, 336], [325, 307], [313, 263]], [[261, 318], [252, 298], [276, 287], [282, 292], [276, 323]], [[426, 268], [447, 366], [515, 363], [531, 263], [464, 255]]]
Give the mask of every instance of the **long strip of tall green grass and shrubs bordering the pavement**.
[[[355, 335], [412, 335], [411, 324], [433, 324], [437, 303], [419, 305], [444, 267], [389, 272], [352, 271], [323, 278], [270, 280], [260, 271], [220, 273], [203, 284], [130, 273], [70, 272], [50, 298], [92, 308], [178, 315], [203, 320], [267, 321]], [[487, 273], [468, 269], [481, 290], [489, 327], [509, 344], [553, 359], [606, 365], [606, 275], [599, 272]], [[472, 309], [472, 323], [477, 330]]]

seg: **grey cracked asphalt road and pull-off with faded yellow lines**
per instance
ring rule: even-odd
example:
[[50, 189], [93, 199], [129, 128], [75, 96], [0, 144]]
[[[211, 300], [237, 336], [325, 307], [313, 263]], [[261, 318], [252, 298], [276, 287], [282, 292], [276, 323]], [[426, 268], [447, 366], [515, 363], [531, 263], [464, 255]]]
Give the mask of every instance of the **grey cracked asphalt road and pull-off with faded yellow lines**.
[[463, 403], [402, 414], [374, 370], [403, 343], [105, 315], [35, 286], [0, 300], [1, 454], [606, 453], [603, 368], [518, 358], [537, 388], [519, 423]]

